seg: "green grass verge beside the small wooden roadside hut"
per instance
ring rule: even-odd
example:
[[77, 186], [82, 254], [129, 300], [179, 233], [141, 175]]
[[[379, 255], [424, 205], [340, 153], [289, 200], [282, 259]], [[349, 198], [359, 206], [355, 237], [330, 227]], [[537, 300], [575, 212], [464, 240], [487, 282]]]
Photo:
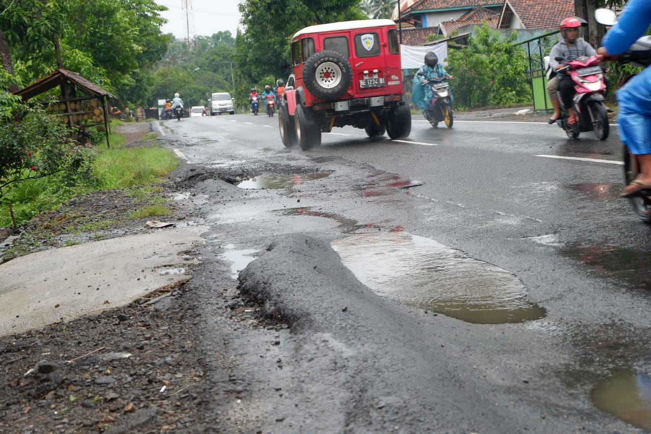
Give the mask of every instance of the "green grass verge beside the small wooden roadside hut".
[[[119, 124], [119, 122], [117, 123]], [[152, 140], [156, 134], [148, 134], [140, 141]], [[72, 197], [90, 192], [143, 187], [142, 192], [134, 193], [147, 197], [150, 203], [159, 205], [164, 199], [152, 195], [157, 190], [156, 184], [163, 182], [162, 177], [178, 166], [174, 152], [154, 146], [126, 148], [126, 138], [118, 132], [109, 134], [111, 147], [105, 141], [96, 147], [97, 155], [92, 164], [92, 178], [76, 186], [66, 186], [55, 175], [40, 179], [18, 182], [7, 188], [3, 204], [11, 203], [16, 220], [20, 226], [29, 222], [33, 216], [48, 210], [57, 210]], [[158, 211], [160, 212], [160, 211]], [[169, 211], [168, 211], [169, 212]], [[167, 215], [167, 214], [158, 214]], [[12, 226], [9, 207], [0, 207], [0, 227]]]

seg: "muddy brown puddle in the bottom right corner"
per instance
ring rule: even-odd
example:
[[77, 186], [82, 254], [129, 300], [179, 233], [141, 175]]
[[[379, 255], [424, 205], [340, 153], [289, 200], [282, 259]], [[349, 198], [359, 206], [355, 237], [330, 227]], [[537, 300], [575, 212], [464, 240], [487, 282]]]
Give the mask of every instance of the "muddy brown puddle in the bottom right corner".
[[616, 371], [592, 389], [594, 405], [631, 425], [651, 429], [651, 377], [630, 369]]

